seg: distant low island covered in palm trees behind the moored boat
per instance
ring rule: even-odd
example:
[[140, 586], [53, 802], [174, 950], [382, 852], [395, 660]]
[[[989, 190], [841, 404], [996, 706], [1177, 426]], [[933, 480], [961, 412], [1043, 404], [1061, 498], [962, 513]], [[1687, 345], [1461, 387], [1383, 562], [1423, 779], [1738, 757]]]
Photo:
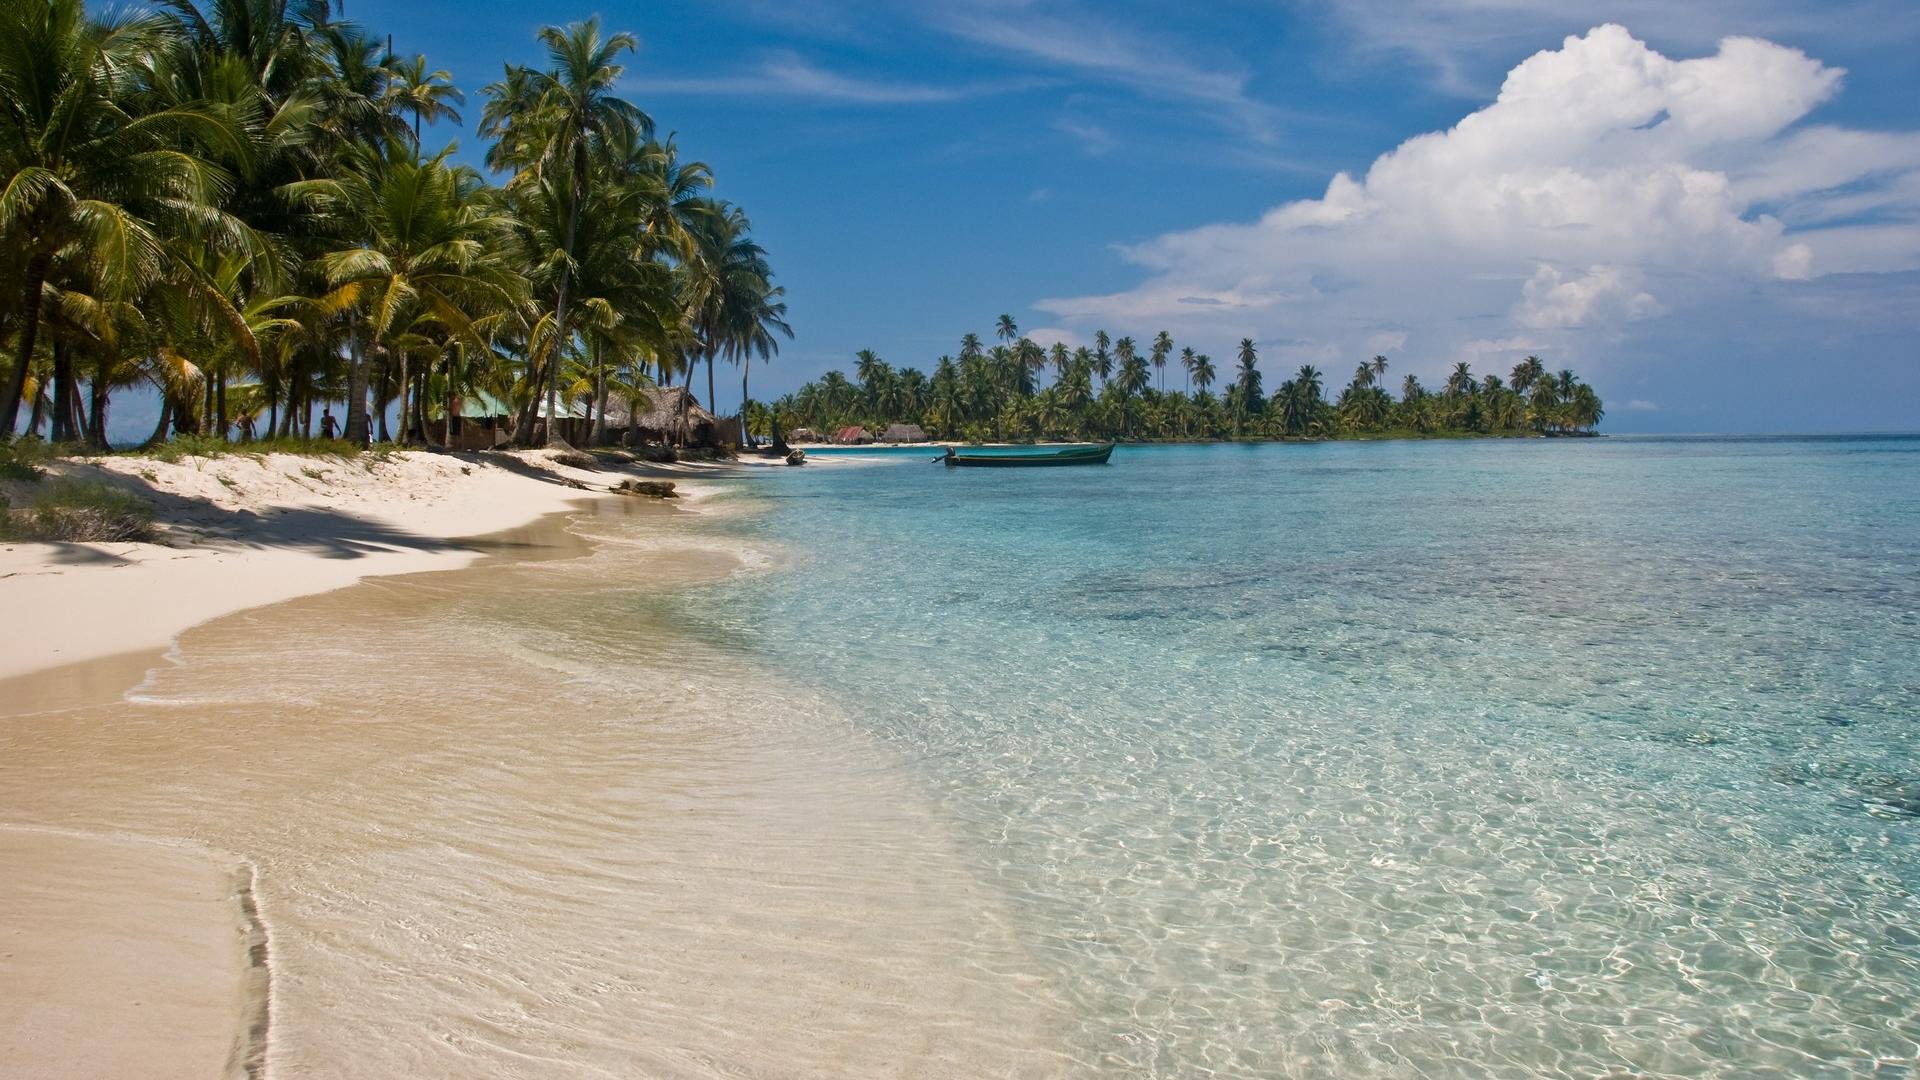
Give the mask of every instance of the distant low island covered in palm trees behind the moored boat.
[[[1175, 352], [1165, 331], [1144, 352], [1106, 331], [1091, 348], [1048, 348], [1000, 315], [995, 336], [998, 344], [989, 348], [979, 334], [966, 334], [958, 357], [943, 356], [931, 377], [860, 350], [852, 379], [829, 371], [770, 405], [749, 404], [749, 429], [770, 434], [780, 421], [783, 432], [879, 434], [914, 425], [931, 438], [962, 442], [1461, 438], [1592, 434], [1605, 415], [1592, 386], [1572, 371], [1548, 371], [1538, 356], [1519, 361], [1507, 379], [1455, 363], [1434, 390], [1405, 375], [1398, 398], [1386, 388], [1392, 363], [1375, 356], [1329, 398], [1327, 375], [1313, 365], [1267, 394], [1260, 352], [1242, 338], [1215, 394], [1223, 373], [1213, 359], [1192, 348]], [[1179, 388], [1167, 390], [1167, 367]]]

